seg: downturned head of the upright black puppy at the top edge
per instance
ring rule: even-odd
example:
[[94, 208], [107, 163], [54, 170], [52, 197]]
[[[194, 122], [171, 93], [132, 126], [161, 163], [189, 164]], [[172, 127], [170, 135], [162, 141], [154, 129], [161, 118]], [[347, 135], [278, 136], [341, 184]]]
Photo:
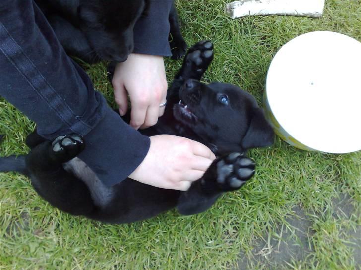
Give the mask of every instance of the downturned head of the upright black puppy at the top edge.
[[133, 51], [133, 28], [147, 0], [83, 0], [79, 24], [101, 60], [123, 62]]

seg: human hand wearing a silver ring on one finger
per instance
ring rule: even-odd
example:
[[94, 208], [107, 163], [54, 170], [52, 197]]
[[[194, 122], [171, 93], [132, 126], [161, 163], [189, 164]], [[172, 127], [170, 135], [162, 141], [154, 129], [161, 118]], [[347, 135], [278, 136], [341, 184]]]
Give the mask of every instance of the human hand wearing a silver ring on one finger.
[[130, 126], [147, 128], [157, 123], [165, 107], [167, 80], [162, 56], [131, 53], [125, 62], [116, 65], [112, 80], [114, 98], [120, 115], [131, 103]]

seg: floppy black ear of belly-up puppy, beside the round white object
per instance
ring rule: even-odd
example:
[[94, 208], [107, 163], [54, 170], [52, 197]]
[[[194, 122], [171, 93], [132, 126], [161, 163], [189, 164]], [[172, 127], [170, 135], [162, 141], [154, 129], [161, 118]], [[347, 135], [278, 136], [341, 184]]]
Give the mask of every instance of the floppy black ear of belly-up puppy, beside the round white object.
[[273, 144], [274, 132], [264, 117], [263, 110], [257, 108], [253, 111], [253, 117], [241, 145], [243, 149], [265, 147]]

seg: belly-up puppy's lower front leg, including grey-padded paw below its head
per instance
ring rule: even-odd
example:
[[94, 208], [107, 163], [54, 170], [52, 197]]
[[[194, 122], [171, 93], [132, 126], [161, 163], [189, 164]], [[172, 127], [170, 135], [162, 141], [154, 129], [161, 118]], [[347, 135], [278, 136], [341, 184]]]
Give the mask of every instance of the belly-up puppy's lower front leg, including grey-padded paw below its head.
[[254, 169], [254, 162], [240, 153], [217, 158], [203, 177], [179, 197], [178, 211], [183, 215], [205, 211], [223, 192], [241, 188], [254, 175]]

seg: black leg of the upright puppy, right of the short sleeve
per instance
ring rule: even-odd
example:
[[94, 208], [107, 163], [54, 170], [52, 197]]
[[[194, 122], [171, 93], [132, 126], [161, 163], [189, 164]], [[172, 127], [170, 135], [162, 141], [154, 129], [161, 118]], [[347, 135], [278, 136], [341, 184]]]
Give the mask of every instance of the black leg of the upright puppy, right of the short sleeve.
[[181, 29], [179, 27], [179, 20], [177, 15], [177, 10], [172, 4], [172, 9], [169, 14], [169, 23], [171, 25], [171, 35], [172, 40], [169, 42], [172, 49], [172, 59], [178, 60], [185, 55], [187, 50], [187, 43], [184, 41], [183, 36], [181, 34]]

